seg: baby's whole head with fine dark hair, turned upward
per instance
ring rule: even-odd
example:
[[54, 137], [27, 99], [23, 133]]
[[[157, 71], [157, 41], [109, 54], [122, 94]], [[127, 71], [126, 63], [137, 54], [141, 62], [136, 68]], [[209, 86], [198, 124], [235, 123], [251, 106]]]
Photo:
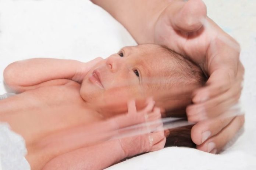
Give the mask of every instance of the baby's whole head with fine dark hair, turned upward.
[[127, 111], [127, 101], [153, 96], [164, 110], [191, 103], [191, 91], [205, 83], [198, 66], [155, 44], [124, 47], [99, 62], [85, 76], [80, 94], [104, 111]]

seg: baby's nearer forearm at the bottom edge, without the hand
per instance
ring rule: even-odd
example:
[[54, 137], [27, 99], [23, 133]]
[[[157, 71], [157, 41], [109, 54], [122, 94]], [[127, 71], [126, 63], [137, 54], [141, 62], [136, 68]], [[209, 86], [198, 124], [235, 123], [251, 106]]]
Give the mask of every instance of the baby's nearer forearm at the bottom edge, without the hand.
[[113, 140], [58, 156], [42, 170], [101, 170], [124, 158], [120, 143]]

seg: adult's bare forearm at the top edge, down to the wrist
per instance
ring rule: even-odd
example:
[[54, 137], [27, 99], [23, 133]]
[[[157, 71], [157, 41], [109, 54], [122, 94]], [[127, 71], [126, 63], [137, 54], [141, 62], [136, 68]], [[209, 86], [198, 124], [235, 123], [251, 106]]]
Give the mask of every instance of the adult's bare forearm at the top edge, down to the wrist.
[[120, 22], [138, 44], [154, 42], [154, 23], [170, 0], [92, 0]]

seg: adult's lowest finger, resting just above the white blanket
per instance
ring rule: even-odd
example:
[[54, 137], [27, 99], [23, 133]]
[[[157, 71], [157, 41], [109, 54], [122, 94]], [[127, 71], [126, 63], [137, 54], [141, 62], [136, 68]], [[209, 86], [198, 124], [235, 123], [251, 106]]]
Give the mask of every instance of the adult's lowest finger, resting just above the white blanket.
[[225, 144], [230, 141], [239, 129], [244, 124], [244, 116], [235, 117], [224, 129], [222, 129], [218, 134], [206, 140], [203, 144], [198, 145], [199, 150], [210, 152], [216, 154], [221, 151]]

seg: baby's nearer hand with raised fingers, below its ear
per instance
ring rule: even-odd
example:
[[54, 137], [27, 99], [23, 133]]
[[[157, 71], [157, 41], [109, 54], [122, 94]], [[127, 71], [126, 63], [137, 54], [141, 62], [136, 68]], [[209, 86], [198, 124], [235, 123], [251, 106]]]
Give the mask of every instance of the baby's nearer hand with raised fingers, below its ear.
[[[154, 107], [154, 101], [152, 99], [148, 100], [147, 106], [141, 111], [136, 110], [134, 100], [128, 102], [127, 115], [130, 118], [136, 118], [137, 116], [141, 117], [141, 115], [144, 115], [144, 120], [141, 119], [140, 123], [157, 121], [158, 119], [161, 119], [160, 108]], [[131, 126], [134, 125], [134, 122], [139, 123], [138, 120], [139, 119], [127, 119], [125, 124], [130, 124]], [[147, 125], [140, 128], [140, 130], [144, 131], [146, 129], [161, 128], [162, 126], [162, 123], [158, 123], [157, 125], [154, 123], [154, 125]], [[125, 157], [129, 157], [164, 148], [166, 137], [164, 136], [164, 130], [158, 130], [156, 132], [150, 132], [150, 130], [147, 130], [146, 134], [121, 138], [119, 141]]]

